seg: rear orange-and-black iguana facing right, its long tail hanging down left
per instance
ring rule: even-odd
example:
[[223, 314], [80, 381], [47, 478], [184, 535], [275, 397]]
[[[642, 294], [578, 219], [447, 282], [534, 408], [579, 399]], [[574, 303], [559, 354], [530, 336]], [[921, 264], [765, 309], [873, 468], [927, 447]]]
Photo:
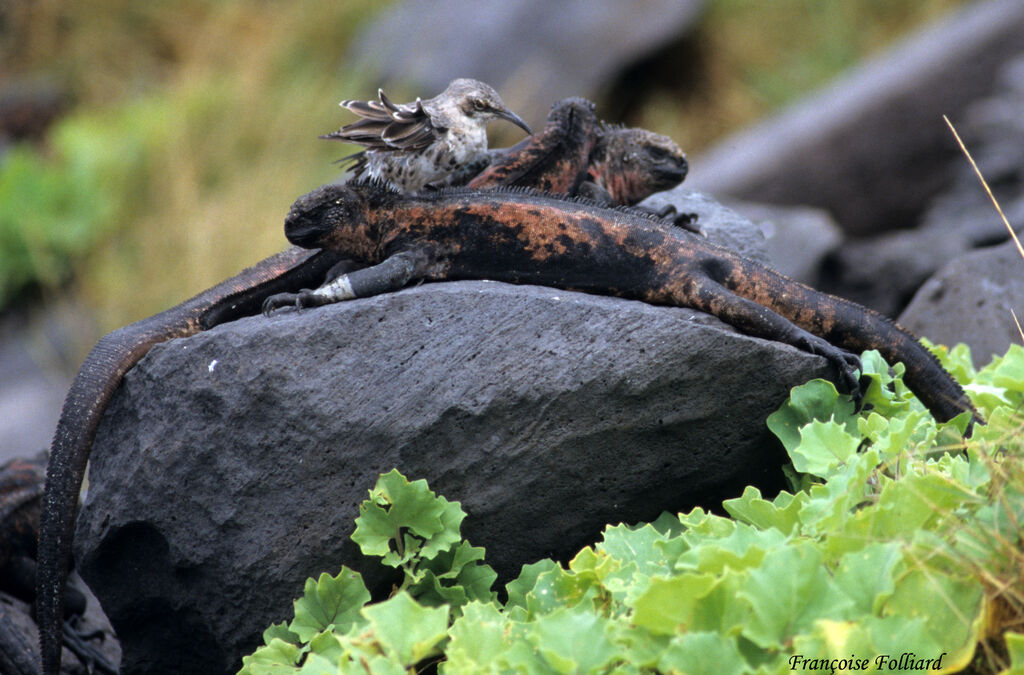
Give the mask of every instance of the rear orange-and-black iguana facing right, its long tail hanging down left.
[[[475, 187], [526, 185], [566, 195], [586, 185], [606, 193], [609, 202], [632, 204], [673, 187], [686, 174], [685, 157], [674, 142], [640, 129], [602, 125], [593, 104], [581, 98], [556, 103], [544, 130], [490, 160], [489, 170], [462, 170], [457, 179], [472, 179]], [[82, 477], [99, 421], [124, 374], [155, 344], [256, 314], [273, 294], [316, 286], [329, 270], [337, 276], [357, 266], [334, 251], [291, 248], [110, 333], [89, 352], [65, 399], [47, 466], [37, 594], [45, 673], [59, 669], [59, 618]]]

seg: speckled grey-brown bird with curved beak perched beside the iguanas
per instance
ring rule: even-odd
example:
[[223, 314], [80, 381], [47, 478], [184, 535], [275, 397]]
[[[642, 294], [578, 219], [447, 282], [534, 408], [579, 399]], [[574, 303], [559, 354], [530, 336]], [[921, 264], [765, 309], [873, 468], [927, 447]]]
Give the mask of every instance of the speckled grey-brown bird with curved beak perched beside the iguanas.
[[359, 120], [321, 138], [366, 145], [339, 163], [350, 162], [357, 178], [381, 180], [400, 192], [443, 180], [456, 168], [485, 155], [488, 122], [507, 120], [534, 133], [497, 91], [477, 80], [453, 80], [433, 98], [413, 103], [393, 103], [383, 89], [377, 95], [380, 102], [341, 101]]

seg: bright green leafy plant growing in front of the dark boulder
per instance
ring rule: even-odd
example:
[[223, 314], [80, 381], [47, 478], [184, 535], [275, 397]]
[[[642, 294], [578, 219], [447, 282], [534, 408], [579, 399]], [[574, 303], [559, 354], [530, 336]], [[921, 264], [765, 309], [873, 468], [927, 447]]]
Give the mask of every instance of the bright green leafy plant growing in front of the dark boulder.
[[980, 372], [935, 351], [988, 420], [970, 440], [865, 352], [862, 410], [816, 380], [770, 417], [792, 491], [608, 526], [567, 565], [524, 565], [505, 602], [458, 503], [385, 474], [352, 539], [400, 587], [372, 603], [349, 569], [307, 581], [242, 673], [1024, 672], [1024, 349]]

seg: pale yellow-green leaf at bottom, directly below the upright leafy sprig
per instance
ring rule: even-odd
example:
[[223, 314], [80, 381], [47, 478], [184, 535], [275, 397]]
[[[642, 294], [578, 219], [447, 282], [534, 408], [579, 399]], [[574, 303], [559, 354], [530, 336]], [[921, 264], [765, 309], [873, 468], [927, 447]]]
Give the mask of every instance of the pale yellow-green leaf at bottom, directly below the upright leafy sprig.
[[449, 608], [424, 607], [404, 592], [364, 607], [362, 616], [404, 666], [437, 653], [437, 645], [447, 635]]

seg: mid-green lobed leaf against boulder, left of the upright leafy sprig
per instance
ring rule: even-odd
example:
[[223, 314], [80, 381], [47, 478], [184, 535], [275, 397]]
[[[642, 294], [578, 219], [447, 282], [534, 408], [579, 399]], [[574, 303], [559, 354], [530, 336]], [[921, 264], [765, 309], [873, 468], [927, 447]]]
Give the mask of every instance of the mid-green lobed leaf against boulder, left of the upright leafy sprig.
[[295, 619], [288, 628], [303, 642], [330, 626], [345, 632], [360, 621], [359, 609], [369, 601], [370, 592], [359, 573], [344, 566], [337, 577], [325, 572], [316, 581], [306, 580], [302, 597], [295, 600]]

